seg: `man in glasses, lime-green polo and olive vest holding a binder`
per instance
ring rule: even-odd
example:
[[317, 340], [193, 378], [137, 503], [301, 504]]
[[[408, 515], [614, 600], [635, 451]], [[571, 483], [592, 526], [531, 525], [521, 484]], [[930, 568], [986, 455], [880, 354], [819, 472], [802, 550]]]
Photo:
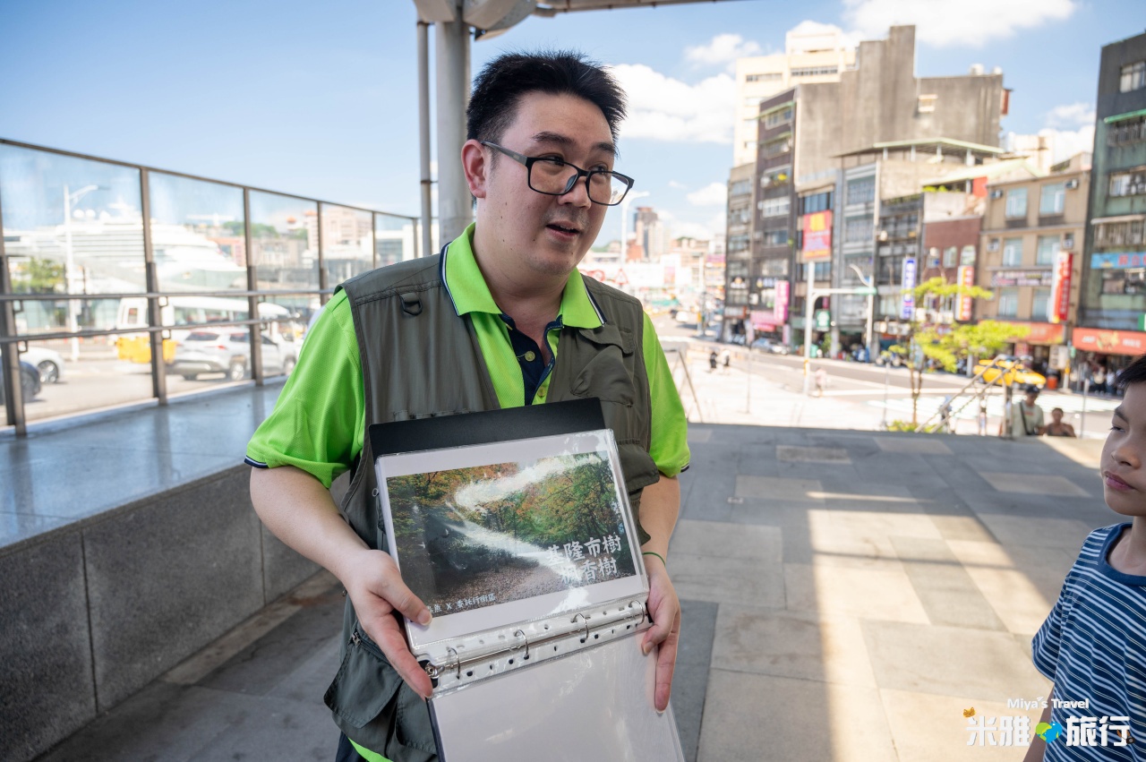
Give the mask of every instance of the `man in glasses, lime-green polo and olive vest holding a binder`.
[[[259, 517], [346, 588], [343, 665], [325, 697], [339, 760], [437, 759], [430, 678], [397, 618], [430, 612], [377, 550], [375, 422], [602, 399], [649, 571], [653, 702], [668, 704], [680, 603], [664, 559], [688, 466], [683, 409], [639, 303], [575, 269], [633, 183], [613, 172], [623, 115], [613, 79], [578, 55], [490, 62], [461, 155], [476, 223], [437, 257], [344, 283], [251, 440]], [[339, 510], [328, 488], [345, 471]]]

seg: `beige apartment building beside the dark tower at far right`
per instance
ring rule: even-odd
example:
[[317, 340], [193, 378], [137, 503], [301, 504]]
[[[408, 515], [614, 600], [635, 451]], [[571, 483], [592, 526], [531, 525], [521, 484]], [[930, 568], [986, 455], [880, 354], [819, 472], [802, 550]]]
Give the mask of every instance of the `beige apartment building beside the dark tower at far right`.
[[987, 186], [976, 283], [994, 299], [976, 300], [975, 316], [1022, 325], [1027, 333], [1017, 333], [1011, 349], [1039, 370], [1076, 322], [1089, 188], [1088, 154], [1046, 176]]

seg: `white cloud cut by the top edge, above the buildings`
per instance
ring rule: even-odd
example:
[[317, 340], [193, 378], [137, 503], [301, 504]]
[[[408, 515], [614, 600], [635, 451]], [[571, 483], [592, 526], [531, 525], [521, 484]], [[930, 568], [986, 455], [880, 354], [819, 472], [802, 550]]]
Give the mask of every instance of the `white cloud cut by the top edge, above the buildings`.
[[843, 0], [843, 18], [861, 39], [879, 39], [887, 28], [915, 24], [921, 42], [935, 47], [982, 47], [1015, 32], [1069, 18], [1080, 0]]

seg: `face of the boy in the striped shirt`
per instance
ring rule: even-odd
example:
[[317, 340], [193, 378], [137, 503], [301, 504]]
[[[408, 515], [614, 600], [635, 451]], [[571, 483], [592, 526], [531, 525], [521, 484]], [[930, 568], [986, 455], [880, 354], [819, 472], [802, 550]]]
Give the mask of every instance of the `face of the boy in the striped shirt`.
[[1146, 516], [1146, 384], [1127, 387], [1102, 446], [1102, 493], [1110, 510]]

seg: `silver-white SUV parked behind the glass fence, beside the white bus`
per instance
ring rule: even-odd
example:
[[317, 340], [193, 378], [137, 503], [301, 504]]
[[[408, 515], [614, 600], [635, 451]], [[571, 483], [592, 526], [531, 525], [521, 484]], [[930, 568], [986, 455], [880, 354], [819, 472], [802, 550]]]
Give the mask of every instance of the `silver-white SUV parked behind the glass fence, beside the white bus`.
[[[267, 375], [289, 374], [295, 362], [293, 352], [262, 336], [262, 368]], [[191, 331], [175, 346], [168, 368], [188, 380], [201, 374], [225, 374], [229, 380], [242, 380], [251, 372], [251, 333], [231, 328]]]

